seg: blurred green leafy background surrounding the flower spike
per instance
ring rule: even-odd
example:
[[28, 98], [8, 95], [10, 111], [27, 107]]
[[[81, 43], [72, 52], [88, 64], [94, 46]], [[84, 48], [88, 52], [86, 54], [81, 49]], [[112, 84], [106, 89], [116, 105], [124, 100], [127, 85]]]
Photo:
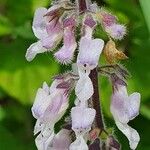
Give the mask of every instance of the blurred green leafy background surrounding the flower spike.
[[[97, 0], [99, 1], [99, 0]], [[130, 124], [141, 136], [138, 150], [150, 150], [150, 0], [103, 0], [104, 6], [127, 25], [128, 35], [119, 42], [129, 60], [122, 63], [132, 74], [130, 92], [142, 94], [141, 114]], [[0, 0], [0, 150], [34, 150], [31, 115], [36, 90], [43, 81], [68, 68], [59, 65], [51, 53], [25, 60], [26, 49], [36, 41], [31, 23], [36, 8], [49, 0]], [[106, 37], [97, 30], [97, 37]], [[102, 58], [103, 59], [103, 58]], [[111, 85], [100, 78], [103, 112], [107, 127], [114, 127], [123, 150], [128, 141], [117, 130], [109, 112]]]

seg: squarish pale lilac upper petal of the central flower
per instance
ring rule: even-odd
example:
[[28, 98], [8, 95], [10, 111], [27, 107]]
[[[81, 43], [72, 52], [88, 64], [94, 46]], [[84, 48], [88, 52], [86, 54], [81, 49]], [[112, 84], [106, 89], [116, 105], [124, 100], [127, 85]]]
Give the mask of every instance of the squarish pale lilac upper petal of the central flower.
[[94, 69], [98, 65], [100, 54], [104, 47], [104, 41], [101, 39], [88, 39], [82, 37], [79, 45], [79, 54], [77, 64]]

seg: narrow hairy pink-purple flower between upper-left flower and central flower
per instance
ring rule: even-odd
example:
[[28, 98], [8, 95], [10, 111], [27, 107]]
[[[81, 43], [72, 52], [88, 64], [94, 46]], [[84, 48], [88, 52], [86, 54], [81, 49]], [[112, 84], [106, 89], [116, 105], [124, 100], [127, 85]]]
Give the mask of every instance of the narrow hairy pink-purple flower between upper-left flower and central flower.
[[70, 63], [73, 59], [74, 51], [77, 48], [75, 39], [76, 21], [73, 16], [64, 20], [64, 45], [55, 53], [55, 58], [64, 64]]

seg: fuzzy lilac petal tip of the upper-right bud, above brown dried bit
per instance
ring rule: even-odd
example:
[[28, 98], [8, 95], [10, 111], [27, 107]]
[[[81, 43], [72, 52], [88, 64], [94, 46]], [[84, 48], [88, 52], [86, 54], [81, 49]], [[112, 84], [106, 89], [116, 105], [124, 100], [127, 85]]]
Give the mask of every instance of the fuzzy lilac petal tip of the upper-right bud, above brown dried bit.
[[120, 24], [113, 24], [105, 27], [106, 32], [116, 40], [121, 40], [126, 34], [126, 27]]

